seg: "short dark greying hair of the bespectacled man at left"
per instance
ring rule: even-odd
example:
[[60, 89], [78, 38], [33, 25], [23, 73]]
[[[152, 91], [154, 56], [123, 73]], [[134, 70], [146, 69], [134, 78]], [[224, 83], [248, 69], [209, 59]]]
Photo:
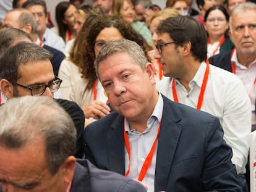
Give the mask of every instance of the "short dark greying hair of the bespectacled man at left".
[[[20, 64], [51, 59], [52, 54], [35, 43], [20, 42], [10, 48], [0, 58], [0, 80], [5, 78], [11, 83], [17, 82], [21, 77]], [[36, 65], [36, 62], [35, 62]]]

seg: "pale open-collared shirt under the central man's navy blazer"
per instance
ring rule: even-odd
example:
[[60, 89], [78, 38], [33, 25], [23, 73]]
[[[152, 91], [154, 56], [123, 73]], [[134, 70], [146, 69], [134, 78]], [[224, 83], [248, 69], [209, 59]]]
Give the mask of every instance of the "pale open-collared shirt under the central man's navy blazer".
[[[138, 180], [140, 170], [142, 165], [150, 152], [150, 149], [155, 141], [156, 135], [158, 133], [158, 127], [162, 119], [163, 114], [163, 98], [161, 94], [158, 96], [158, 102], [156, 103], [155, 109], [148, 119], [147, 128], [143, 133], [136, 130], [130, 130], [129, 123], [127, 119], [124, 119], [125, 129], [127, 131], [127, 136], [130, 145], [130, 162], [127, 149], [125, 147], [125, 166], [126, 172], [130, 163], [130, 173], [128, 178]], [[148, 192], [155, 191], [155, 167], [156, 167], [156, 153], [157, 153], [158, 141], [156, 142], [155, 151], [153, 158], [148, 167], [148, 171], [143, 178], [142, 182], [148, 187]]]

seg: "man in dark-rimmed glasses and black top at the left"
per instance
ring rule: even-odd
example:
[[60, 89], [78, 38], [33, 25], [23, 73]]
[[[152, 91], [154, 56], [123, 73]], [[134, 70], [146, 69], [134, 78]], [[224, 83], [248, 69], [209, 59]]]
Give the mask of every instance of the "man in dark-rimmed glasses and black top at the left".
[[[15, 30], [15, 29], [12, 29]], [[0, 31], [1, 32], [1, 31]], [[14, 33], [13, 33], [14, 34]], [[35, 43], [20, 42], [0, 59], [0, 88], [7, 99], [32, 95], [48, 96], [59, 90], [62, 80], [54, 76], [51, 53]], [[55, 99], [70, 115], [77, 129], [75, 157], [83, 157], [84, 115], [75, 103]]]

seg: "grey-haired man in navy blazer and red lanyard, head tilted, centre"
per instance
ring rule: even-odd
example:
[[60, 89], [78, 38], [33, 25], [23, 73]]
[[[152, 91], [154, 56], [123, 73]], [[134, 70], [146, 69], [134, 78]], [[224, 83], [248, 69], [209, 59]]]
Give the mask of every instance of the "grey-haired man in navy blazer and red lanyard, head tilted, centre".
[[217, 117], [156, 91], [134, 41], [106, 44], [95, 61], [114, 112], [85, 128], [85, 157], [153, 191], [241, 191]]

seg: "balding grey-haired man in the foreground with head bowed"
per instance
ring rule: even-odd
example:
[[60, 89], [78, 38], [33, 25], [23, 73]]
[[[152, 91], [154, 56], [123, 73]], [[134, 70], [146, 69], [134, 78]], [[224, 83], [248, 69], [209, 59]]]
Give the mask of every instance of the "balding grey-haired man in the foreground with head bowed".
[[0, 106], [0, 191], [145, 192], [139, 182], [74, 157], [72, 119], [48, 97]]

